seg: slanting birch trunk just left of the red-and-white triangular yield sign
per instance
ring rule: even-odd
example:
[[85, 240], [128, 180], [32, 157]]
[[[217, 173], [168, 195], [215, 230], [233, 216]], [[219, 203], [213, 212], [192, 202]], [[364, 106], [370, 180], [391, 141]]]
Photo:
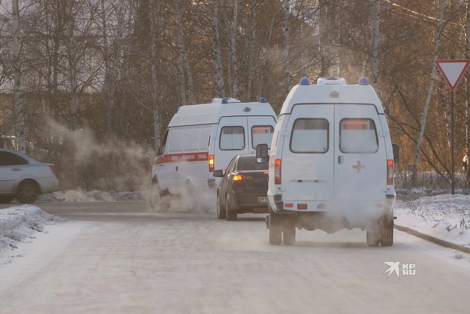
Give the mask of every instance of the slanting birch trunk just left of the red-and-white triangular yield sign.
[[424, 127], [426, 125], [427, 110], [429, 109], [429, 103], [431, 101], [432, 88], [434, 86], [434, 79], [435, 79], [435, 74], [436, 74], [436, 60], [437, 60], [437, 53], [439, 52], [439, 40], [441, 38], [441, 34], [443, 30], [442, 20], [444, 16], [445, 5], [446, 5], [446, 0], [442, 0], [441, 11], [439, 14], [439, 24], [438, 24], [437, 31], [436, 31], [436, 39], [434, 41], [434, 56], [433, 56], [432, 67], [431, 67], [431, 80], [429, 82], [429, 88], [427, 90], [426, 103], [424, 104], [424, 110], [423, 110], [423, 121], [421, 121], [420, 135], [418, 136], [418, 143], [416, 144], [415, 160], [413, 162], [413, 169], [412, 169], [413, 178], [416, 178], [418, 174], [418, 162], [420, 160], [421, 144], [423, 143], [423, 134], [424, 134]]

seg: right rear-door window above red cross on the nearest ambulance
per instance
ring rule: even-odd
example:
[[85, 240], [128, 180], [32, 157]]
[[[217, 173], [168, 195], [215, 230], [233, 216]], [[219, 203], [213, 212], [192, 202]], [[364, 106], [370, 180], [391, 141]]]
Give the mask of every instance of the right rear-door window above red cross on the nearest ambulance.
[[378, 150], [376, 125], [372, 119], [343, 119], [339, 148], [343, 153], [375, 153]]

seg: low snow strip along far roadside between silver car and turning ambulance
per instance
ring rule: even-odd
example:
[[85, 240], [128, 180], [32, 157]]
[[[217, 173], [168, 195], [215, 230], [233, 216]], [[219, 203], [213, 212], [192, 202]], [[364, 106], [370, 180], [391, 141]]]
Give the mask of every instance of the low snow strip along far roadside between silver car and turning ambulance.
[[67, 191], [42, 194], [37, 199], [38, 202], [95, 202], [140, 200], [148, 200], [148, 192]]

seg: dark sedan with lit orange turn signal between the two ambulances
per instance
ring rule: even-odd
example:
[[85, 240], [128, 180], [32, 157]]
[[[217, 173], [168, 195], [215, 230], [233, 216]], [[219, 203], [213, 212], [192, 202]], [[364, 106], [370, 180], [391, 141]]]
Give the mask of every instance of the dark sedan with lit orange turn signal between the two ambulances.
[[217, 217], [236, 220], [237, 214], [268, 213], [268, 163], [259, 164], [256, 155], [237, 155], [220, 177], [217, 188]]

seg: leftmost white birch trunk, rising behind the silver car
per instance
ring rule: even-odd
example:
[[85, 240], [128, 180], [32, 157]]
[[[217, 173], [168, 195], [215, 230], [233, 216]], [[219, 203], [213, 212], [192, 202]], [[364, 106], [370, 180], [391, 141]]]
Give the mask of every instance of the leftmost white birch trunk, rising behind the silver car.
[[24, 135], [24, 106], [23, 91], [21, 89], [21, 34], [20, 34], [20, 8], [18, 0], [11, 1], [13, 24], [13, 98], [16, 115], [16, 140], [18, 151], [26, 153], [26, 139]]

